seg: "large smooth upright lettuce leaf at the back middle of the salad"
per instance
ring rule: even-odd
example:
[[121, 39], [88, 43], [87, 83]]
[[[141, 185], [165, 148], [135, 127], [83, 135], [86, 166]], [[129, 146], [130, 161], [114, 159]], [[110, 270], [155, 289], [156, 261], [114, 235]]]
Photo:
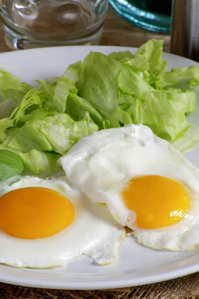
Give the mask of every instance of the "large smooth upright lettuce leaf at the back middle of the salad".
[[117, 106], [120, 66], [118, 61], [97, 52], [91, 52], [84, 60], [78, 90], [99, 112], [112, 112]]

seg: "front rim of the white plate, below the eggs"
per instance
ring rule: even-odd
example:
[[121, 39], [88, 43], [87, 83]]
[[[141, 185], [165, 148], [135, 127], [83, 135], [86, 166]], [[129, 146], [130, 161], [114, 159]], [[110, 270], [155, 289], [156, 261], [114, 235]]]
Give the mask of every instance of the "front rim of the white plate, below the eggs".
[[[176, 263], [174, 263], [176, 264]], [[31, 287], [31, 288], [39, 288], [39, 289], [57, 289], [57, 290], [111, 290], [111, 289], [121, 289], [121, 288], [128, 288], [128, 287], [139, 287], [144, 285], [150, 285], [150, 284], [156, 284], [161, 283], [173, 279], [177, 279], [183, 276], [191, 275], [194, 273], [197, 273], [199, 271], [199, 262], [197, 264], [194, 264], [192, 266], [186, 266], [182, 267], [180, 269], [171, 270], [169, 272], [166, 272], [166, 274], [163, 272], [161, 274], [157, 274], [156, 276], [152, 275], [143, 277], [142, 280], [138, 278], [137, 280], [133, 278], [134, 283], [132, 283], [132, 279], [121, 279], [116, 281], [82, 281], [76, 280], [75, 282], [69, 282], [67, 283], [67, 277], [65, 278], [65, 282], [59, 282], [56, 280], [56, 283], [54, 280], [48, 280], [43, 279], [42, 277], [56, 277], [54, 275], [45, 275], [45, 274], [38, 274], [38, 273], [31, 273], [31, 272], [22, 272], [21, 269], [16, 269], [13, 267], [10, 267], [13, 272], [19, 271], [19, 273], [23, 273], [22, 278], [24, 280], [19, 280], [18, 275], [16, 274], [7, 274], [4, 276], [1, 276], [0, 272], [0, 282], [11, 284], [11, 285], [17, 285], [17, 286], [23, 286], [23, 287]], [[6, 267], [6, 269], [9, 269]], [[27, 277], [29, 276], [29, 277]], [[38, 278], [32, 278], [32, 276], [38, 276]], [[9, 279], [7, 279], [7, 277]], [[82, 275], [81, 275], [82, 277]], [[138, 282], [136, 282], [138, 281]]]

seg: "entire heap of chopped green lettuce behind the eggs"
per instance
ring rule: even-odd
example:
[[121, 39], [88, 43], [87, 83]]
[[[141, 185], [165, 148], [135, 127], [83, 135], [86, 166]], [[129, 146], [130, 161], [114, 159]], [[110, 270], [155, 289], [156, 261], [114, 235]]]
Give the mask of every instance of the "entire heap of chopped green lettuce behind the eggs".
[[[98, 130], [144, 124], [181, 152], [199, 141], [186, 115], [196, 109], [197, 66], [166, 72], [162, 40], [149, 40], [135, 55], [91, 52], [61, 77], [37, 80], [38, 87], [0, 69], [0, 149], [18, 156], [35, 173], [55, 172], [60, 155]], [[4, 118], [3, 118], [4, 117]]]

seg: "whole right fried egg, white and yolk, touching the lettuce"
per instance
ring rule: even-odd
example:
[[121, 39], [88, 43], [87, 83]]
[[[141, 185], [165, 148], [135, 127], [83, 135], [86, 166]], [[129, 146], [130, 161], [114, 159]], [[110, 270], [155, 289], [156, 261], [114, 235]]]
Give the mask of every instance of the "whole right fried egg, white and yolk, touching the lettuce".
[[60, 158], [93, 203], [105, 203], [137, 242], [154, 249], [199, 248], [199, 170], [143, 125], [102, 130]]

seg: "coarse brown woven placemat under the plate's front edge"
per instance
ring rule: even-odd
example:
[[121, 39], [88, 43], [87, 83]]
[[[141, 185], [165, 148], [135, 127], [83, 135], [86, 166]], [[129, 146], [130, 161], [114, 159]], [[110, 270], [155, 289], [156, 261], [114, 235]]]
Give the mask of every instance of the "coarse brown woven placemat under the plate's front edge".
[[67, 291], [0, 284], [0, 299], [199, 299], [199, 273], [163, 283], [103, 291]]

